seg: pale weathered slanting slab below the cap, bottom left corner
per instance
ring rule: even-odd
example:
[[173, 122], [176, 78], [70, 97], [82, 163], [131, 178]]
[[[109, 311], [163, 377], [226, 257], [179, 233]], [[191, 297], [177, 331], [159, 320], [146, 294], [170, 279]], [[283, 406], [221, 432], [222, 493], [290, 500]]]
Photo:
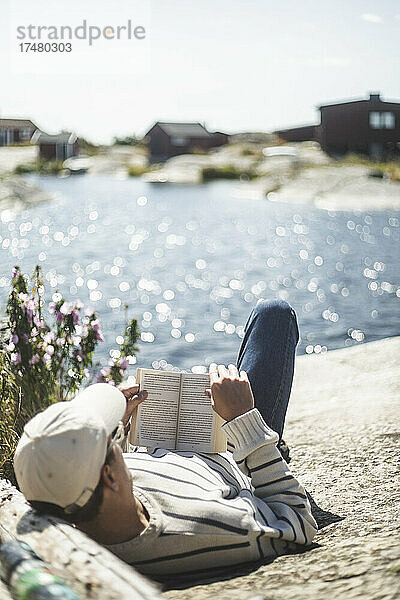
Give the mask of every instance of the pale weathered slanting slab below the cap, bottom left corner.
[[[0, 480], [0, 542], [27, 542], [82, 600], [160, 600], [158, 587], [78, 529], [32, 511]], [[0, 586], [0, 600], [7, 600]]]

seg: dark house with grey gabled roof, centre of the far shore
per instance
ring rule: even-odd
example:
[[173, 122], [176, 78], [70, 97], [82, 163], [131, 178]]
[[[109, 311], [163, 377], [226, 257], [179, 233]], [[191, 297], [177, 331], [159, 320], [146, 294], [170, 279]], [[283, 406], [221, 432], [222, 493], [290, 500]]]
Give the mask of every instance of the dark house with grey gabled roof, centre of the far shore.
[[228, 142], [225, 133], [210, 133], [200, 123], [164, 123], [158, 121], [146, 133], [150, 157], [153, 161], [188, 154], [195, 150], [209, 150]]

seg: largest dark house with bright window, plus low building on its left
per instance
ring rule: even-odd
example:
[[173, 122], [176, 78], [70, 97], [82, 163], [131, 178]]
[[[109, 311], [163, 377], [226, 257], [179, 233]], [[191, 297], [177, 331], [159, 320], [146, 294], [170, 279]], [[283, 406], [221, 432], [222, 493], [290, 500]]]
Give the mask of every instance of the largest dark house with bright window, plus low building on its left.
[[316, 140], [333, 156], [348, 153], [371, 158], [400, 157], [400, 102], [386, 102], [379, 94], [367, 100], [322, 104], [319, 125], [275, 131], [288, 142]]

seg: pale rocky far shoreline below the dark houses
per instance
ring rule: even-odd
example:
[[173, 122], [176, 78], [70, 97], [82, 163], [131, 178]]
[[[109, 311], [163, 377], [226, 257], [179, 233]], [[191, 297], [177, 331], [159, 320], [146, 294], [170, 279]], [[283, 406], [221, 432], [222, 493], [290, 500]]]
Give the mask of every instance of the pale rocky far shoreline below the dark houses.
[[[336, 164], [312, 145], [298, 144], [296, 152], [295, 161], [288, 156], [263, 158], [259, 148], [236, 144], [208, 154], [175, 156], [160, 165], [149, 166], [143, 149], [111, 146], [90, 157], [89, 172], [82, 176], [127, 177], [137, 173], [137, 177], [157, 185], [203, 185], [203, 169], [211, 167], [216, 171], [212, 180], [230, 181], [235, 197], [244, 201], [265, 199], [349, 212], [400, 210], [400, 182], [389, 179], [386, 172], [374, 173], [371, 165], [353, 164], [351, 160], [349, 164]], [[0, 148], [0, 211], [20, 210], [51, 200], [40, 187], [13, 174], [18, 165], [34, 163], [36, 153], [33, 146]], [[255, 178], [224, 178], [224, 170], [230, 171], [231, 176], [233, 172], [251, 172]]]

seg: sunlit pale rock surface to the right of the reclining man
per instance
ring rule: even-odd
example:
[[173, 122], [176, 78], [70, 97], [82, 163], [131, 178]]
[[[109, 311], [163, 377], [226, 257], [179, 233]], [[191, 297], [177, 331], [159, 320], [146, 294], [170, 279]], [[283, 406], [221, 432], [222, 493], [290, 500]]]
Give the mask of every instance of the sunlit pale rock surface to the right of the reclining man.
[[315, 547], [171, 600], [400, 597], [400, 337], [297, 360], [285, 429]]

